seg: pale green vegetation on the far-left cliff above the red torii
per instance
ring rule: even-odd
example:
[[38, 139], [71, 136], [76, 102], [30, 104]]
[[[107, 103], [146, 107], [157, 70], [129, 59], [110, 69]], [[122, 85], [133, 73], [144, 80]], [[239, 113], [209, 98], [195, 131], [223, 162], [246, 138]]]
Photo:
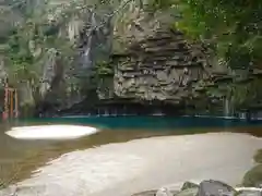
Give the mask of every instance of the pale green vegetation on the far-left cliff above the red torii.
[[[3, 2], [13, 14], [19, 14], [16, 20], [2, 36], [0, 58], [4, 62], [9, 84], [26, 91], [21, 96], [20, 105], [35, 105], [39, 99], [43, 71], [51, 49], [60, 52], [62, 57], [70, 56], [71, 44], [59, 36], [59, 24], [50, 21], [49, 7], [38, 1], [11, 1]], [[37, 8], [37, 9], [35, 9]], [[55, 13], [52, 13], [55, 15]], [[4, 15], [1, 15], [1, 19]], [[9, 20], [13, 17], [10, 16]], [[59, 21], [61, 23], [61, 21]], [[66, 62], [66, 61], [64, 61]], [[69, 61], [67, 61], [69, 62]], [[23, 98], [22, 98], [23, 97]], [[29, 99], [28, 97], [32, 97]]]

